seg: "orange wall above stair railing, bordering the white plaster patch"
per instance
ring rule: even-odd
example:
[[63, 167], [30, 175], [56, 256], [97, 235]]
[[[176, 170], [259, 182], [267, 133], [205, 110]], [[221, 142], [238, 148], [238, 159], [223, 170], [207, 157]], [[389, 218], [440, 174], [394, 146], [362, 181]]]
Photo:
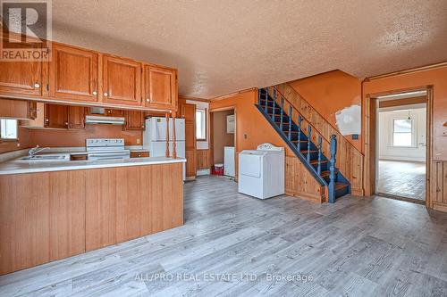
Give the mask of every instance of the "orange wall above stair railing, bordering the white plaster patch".
[[[299, 95], [337, 128], [335, 113], [351, 105], [361, 105], [361, 81], [341, 70], [333, 70], [288, 83]], [[346, 139], [360, 152], [361, 140]]]

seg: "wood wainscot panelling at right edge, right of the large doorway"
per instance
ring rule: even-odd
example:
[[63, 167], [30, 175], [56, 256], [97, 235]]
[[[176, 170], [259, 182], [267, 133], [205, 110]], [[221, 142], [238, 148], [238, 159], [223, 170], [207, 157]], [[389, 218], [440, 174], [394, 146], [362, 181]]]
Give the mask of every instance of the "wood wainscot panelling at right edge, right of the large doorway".
[[432, 161], [430, 170], [430, 207], [447, 211], [447, 161]]

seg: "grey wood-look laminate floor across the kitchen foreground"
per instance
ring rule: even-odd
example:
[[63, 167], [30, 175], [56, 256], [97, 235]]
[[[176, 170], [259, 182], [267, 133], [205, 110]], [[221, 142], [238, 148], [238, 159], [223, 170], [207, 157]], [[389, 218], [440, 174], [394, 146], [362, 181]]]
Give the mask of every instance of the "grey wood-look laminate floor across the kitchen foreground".
[[17, 295], [446, 296], [447, 214], [380, 197], [262, 201], [198, 177], [184, 226], [0, 276], [0, 296]]

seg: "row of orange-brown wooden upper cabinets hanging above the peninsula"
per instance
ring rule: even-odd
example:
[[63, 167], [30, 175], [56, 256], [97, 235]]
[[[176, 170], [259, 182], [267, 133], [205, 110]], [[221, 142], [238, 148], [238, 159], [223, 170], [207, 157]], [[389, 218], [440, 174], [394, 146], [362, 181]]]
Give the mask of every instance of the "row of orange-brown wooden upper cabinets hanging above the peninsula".
[[175, 69], [58, 43], [50, 53], [49, 62], [0, 62], [0, 97], [177, 110]]

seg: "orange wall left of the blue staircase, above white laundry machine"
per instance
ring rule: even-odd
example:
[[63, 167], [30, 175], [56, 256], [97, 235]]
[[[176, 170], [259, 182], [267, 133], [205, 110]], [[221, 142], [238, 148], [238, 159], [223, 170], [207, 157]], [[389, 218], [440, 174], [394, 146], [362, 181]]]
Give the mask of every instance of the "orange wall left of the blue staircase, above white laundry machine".
[[257, 111], [257, 91], [248, 91], [221, 100], [211, 101], [210, 110], [234, 107], [236, 113], [236, 144], [237, 153], [243, 150], [254, 150], [257, 145], [271, 143], [286, 148], [288, 155], [293, 155], [274, 128]]

